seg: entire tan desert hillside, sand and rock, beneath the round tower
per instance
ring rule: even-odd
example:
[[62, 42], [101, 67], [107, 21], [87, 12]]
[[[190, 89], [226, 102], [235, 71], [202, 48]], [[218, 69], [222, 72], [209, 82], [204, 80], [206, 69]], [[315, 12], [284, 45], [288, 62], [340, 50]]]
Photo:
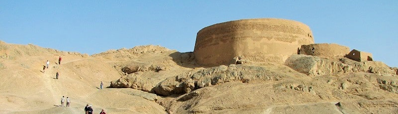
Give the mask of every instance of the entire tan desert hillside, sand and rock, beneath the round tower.
[[292, 55], [205, 67], [153, 45], [86, 55], [0, 42], [0, 52], [1, 114], [82, 114], [86, 104], [107, 114], [398, 113], [398, 70], [378, 61]]

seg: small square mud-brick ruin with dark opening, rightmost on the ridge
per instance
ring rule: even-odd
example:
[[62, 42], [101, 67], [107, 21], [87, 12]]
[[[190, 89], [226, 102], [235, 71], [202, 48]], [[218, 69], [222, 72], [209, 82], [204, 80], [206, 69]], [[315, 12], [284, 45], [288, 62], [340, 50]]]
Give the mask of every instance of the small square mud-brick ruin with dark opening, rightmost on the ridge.
[[371, 53], [358, 51], [356, 49], [353, 49], [350, 53], [346, 55], [346, 57], [358, 62], [373, 61]]

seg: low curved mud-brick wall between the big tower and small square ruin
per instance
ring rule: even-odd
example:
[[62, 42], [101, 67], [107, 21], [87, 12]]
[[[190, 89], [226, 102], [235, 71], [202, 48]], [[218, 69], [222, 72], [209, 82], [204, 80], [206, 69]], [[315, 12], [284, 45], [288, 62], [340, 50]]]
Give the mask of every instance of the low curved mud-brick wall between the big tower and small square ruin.
[[339, 44], [309, 44], [301, 45], [299, 54], [318, 56], [322, 58], [332, 58], [335, 56], [345, 56], [350, 52], [350, 48]]

